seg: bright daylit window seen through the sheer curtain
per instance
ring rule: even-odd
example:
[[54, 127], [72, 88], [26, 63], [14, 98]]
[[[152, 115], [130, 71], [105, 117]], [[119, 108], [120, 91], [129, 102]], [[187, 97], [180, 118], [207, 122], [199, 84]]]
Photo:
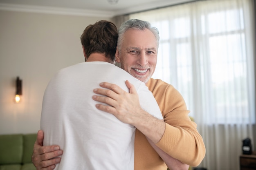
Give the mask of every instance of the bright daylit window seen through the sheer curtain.
[[253, 51], [248, 43], [252, 30], [245, 27], [247, 11], [230, 1], [222, 1], [218, 8], [214, 2], [205, 7], [183, 5], [130, 15], [159, 29], [153, 78], [177, 88], [190, 115], [207, 114], [207, 124], [255, 123], [253, 55], [248, 52]]

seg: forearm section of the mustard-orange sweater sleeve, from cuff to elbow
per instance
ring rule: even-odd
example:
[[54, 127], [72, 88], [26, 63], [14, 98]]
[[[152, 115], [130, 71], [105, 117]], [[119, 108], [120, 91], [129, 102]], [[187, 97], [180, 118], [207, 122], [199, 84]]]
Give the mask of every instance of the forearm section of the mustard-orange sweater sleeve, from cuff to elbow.
[[198, 166], [205, 155], [203, 139], [197, 131], [168, 124], [156, 146], [190, 166]]

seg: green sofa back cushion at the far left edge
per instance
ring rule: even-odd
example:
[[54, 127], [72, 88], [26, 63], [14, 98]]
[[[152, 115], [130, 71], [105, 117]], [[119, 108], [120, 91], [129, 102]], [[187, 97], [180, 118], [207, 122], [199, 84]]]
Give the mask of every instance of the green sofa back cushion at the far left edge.
[[23, 135], [0, 135], [0, 152], [0, 164], [21, 163]]

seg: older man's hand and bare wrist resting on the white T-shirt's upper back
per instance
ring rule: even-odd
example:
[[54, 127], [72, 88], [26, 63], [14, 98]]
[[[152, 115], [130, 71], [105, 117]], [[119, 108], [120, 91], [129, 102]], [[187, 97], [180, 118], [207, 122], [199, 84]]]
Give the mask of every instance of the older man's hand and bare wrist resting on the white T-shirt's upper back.
[[135, 126], [155, 144], [159, 142], [165, 130], [164, 121], [153, 117], [141, 108], [137, 91], [128, 80], [126, 80], [126, 86], [130, 93], [116, 84], [104, 82], [100, 86], [103, 88], [94, 89], [94, 93], [98, 95], [93, 95], [92, 99], [110, 106], [96, 104], [99, 110], [111, 113], [123, 123]]

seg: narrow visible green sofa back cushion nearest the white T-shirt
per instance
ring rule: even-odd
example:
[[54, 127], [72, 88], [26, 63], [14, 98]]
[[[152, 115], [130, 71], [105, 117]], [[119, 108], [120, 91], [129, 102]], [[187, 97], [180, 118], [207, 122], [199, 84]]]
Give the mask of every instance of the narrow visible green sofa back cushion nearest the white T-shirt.
[[36, 141], [36, 134], [23, 135], [23, 158], [22, 163], [31, 163], [33, 147]]

